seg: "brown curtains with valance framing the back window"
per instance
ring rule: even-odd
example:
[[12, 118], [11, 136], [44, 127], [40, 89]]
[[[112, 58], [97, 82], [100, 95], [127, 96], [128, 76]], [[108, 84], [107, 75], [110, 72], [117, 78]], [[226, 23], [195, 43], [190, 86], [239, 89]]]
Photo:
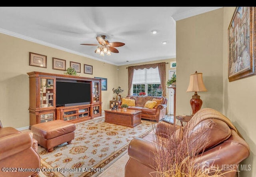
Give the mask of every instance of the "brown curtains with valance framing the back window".
[[162, 95], [166, 97], [166, 86], [165, 86], [165, 78], [166, 78], [166, 67], [165, 67], [165, 62], [162, 63], [155, 63], [155, 64], [146, 64], [146, 65], [139, 65], [139, 66], [129, 66], [128, 67], [128, 95], [130, 95], [130, 89], [132, 87], [132, 78], [133, 78], [133, 73], [134, 70], [141, 69], [143, 70], [144, 68], [149, 69], [149, 68], [156, 68], [158, 67], [159, 71], [159, 76], [160, 76], [160, 82], [161, 82], [161, 87], [162, 87]]

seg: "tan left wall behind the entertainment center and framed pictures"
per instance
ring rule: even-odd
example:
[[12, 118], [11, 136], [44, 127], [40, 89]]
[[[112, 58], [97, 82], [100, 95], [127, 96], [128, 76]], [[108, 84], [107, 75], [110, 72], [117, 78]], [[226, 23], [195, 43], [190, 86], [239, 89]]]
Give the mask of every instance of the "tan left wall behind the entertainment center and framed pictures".
[[[102, 91], [102, 110], [108, 109], [112, 88], [117, 85], [117, 66], [92, 60], [55, 48], [36, 44], [0, 33], [0, 119], [3, 126], [15, 128], [29, 126], [29, 80], [27, 72], [40, 71], [64, 74], [52, 69], [52, 57], [81, 63], [80, 76], [108, 79], [108, 90]], [[29, 66], [29, 52], [47, 56], [47, 68]], [[93, 66], [93, 75], [84, 74], [84, 64]], [[111, 88], [111, 89], [110, 89]]]

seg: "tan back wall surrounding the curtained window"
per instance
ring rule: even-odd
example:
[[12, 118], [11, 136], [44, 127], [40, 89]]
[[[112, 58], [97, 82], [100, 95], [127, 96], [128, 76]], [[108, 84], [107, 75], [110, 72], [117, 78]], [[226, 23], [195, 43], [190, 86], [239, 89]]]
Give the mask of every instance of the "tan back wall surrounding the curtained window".
[[[174, 62], [174, 61], [176, 61], [176, 59], [172, 58], [172, 59], [167, 59], [167, 60], [157, 60], [157, 61], [153, 61], [153, 62], [143, 62], [143, 63], [138, 63], [138, 64], [118, 66], [118, 86], [120, 86], [122, 89], [124, 89], [124, 92], [121, 93], [122, 97], [126, 97], [126, 95], [128, 95], [128, 69], [126, 69], [128, 66], [138, 66], [138, 65], [144, 65], [144, 64], [168, 62], [168, 64], [166, 64], [166, 82], [167, 82], [168, 71], [171, 70], [170, 62]], [[169, 93], [169, 89], [166, 90], [167, 96], [168, 96], [168, 93]]]

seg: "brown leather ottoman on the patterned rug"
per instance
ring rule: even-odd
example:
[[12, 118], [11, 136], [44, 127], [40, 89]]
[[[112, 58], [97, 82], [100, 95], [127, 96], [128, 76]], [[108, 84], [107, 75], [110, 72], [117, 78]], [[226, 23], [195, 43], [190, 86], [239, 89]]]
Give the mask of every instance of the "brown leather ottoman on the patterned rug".
[[55, 146], [67, 142], [71, 143], [75, 138], [76, 125], [63, 120], [54, 120], [32, 125], [33, 138], [38, 144], [45, 147], [48, 152], [53, 151]]

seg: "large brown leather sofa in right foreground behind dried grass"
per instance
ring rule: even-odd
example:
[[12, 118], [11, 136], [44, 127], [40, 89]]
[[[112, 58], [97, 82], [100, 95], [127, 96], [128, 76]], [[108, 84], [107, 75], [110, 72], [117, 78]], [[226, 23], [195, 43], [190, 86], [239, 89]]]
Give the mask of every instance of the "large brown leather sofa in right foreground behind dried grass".
[[[223, 168], [222, 173], [229, 171], [223, 176], [234, 177], [236, 170], [239, 170], [236, 168], [237, 165], [249, 156], [250, 149], [246, 141], [239, 136], [231, 121], [214, 109], [204, 108], [199, 110], [184, 127], [176, 126], [177, 130], [173, 131], [175, 133], [168, 135], [168, 129], [172, 129], [173, 126], [173, 124], [160, 121], [155, 133], [148, 134], [143, 139], [132, 139], [128, 147], [130, 159], [126, 163], [125, 177], [156, 176], [156, 173], [151, 173], [156, 172], [155, 168], [158, 165], [155, 161], [156, 139], [167, 141], [168, 136], [182, 135], [179, 140], [182, 141], [185, 136], [190, 134], [192, 138], [190, 142], [193, 142], [192, 147], [194, 147], [198, 144], [197, 140], [204, 133], [202, 127], [204, 129], [209, 127], [209, 135], [207, 136], [209, 143], [203, 153], [198, 152], [199, 155], [196, 157], [195, 164], [204, 168], [211, 165]], [[184, 133], [186, 129], [189, 131]], [[178, 131], [183, 133], [179, 134]]]

